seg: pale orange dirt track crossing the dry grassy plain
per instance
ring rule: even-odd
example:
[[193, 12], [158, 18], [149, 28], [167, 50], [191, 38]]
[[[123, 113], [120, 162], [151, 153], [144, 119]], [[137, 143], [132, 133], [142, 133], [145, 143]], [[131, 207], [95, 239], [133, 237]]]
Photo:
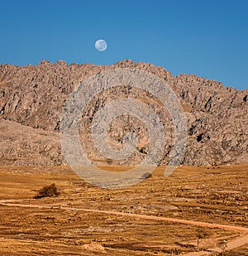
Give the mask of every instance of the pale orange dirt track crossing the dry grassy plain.
[[[21, 203], [17, 203], [17, 201], [21, 202], [22, 200], [0, 200], [0, 205], [28, 207], [28, 208], [40, 208], [40, 209], [42, 209], [42, 208], [43, 209], [58, 208], [60, 210], [81, 210], [81, 211], [88, 211], [88, 212], [98, 212], [98, 213], [103, 213], [103, 214], [107, 214], [107, 215], [121, 215], [121, 216], [127, 216], [127, 217], [139, 218], [139, 219], [145, 219], [145, 220], [161, 220], [161, 221], [168, 221], [168, 222], [180, 223], [180, 224], [185, 224], [185, 225], [196, 225], [196, 226], [209, 227], [209, 228], [228, 229], [228, 230], [242, 232], [243, 235], [241, 237], [238, 237], [236, 239], [229, 241], [227, 243], [227, 250], [235, 249], [237, 247], [241, 247], [242, 245], [248, 244], [248, 228], [240, 227], [240, 226], [212, 224], [212, 223], [194, 221], [194, 220], [179, 220], [179, 219], [175, 219], [175, 218], [167, 218], [167, 217], [160, 217], [160, 216], [154, 216], [154, 215], [131, 214], [131, 213], [126, 213], [126, 212], [122, 212], [122, 211], [94, 210], [94, 209], [86, 209], [86, 208], [60, 206], [60, 205], [55, 206], [55, 205], [21, 204]], [[221, 249], [216, 247], [216, 248], [212, 248], [212, 249], [207, 249], [207, 251], [193, 252], [193, 253], [184, 254], [184, 255], [185, 256], [211, 255], [213, 252], [221, 252]]]

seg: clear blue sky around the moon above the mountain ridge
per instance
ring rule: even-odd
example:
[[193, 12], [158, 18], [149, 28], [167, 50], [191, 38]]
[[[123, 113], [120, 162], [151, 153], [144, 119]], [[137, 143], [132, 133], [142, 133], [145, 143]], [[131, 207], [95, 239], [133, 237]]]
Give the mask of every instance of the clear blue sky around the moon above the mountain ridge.
[[247, 13], [246, 0], [0, 0], [0, 64], [128, 59], [248, 89]]

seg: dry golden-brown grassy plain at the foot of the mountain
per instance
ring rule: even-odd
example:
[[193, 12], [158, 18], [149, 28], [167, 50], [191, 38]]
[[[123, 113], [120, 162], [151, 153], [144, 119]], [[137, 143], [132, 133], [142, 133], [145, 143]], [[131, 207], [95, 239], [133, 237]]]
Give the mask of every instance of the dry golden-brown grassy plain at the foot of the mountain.
[[[247, 255], [247, 166], [157, 168], [122, 190], [69, 167], [0, 168], [0, 255]], [[33, 199], [55, 182], [60, 196]], [[205, 232], [197, 251], [199, 232]]]

